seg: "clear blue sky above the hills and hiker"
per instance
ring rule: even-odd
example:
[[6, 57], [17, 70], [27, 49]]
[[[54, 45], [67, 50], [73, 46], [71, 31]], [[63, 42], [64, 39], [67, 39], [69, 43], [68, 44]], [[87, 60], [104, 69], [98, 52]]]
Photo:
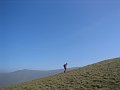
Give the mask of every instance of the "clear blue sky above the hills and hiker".
[[120, 56], [120, 1], [0, 0], [0, 70], [80, 67]]

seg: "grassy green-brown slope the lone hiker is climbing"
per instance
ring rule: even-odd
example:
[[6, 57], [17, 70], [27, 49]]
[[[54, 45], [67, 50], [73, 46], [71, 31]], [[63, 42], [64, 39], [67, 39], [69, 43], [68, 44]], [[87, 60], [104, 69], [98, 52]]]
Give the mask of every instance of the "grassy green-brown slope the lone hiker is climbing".
[[120, 58], [1, 90], [120, 90]]

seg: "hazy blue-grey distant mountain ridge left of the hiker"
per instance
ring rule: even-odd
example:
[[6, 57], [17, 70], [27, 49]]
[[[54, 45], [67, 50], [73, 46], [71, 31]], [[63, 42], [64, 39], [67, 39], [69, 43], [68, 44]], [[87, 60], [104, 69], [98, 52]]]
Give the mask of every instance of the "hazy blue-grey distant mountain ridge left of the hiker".
[[52, 76], [61, 72], [63, 72], [63, 69], [48, 71], [23, 69], [11, 73], [0, 73], [0, 87]]

